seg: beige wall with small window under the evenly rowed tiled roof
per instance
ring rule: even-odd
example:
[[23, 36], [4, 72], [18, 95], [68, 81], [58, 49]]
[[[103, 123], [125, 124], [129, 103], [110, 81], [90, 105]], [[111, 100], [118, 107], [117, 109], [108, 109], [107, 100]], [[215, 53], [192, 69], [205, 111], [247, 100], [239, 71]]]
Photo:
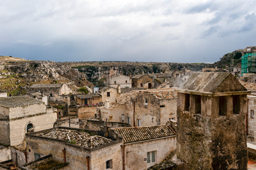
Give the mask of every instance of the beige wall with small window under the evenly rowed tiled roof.
[[[148, 169], [162, 162], [176, 149], [176, 137], [166, 137], [146, 142], [125, 145], [126, 169]], [[147, 153], [156, 152], [155, 162], [147, 163]]]

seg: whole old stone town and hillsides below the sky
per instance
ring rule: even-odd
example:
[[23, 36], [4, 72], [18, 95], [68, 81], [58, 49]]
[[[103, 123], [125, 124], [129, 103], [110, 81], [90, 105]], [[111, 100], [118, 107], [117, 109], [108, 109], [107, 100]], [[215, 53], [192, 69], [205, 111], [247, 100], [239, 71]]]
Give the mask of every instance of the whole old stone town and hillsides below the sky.
[[256, 47], [233, 54], [134, 72], [1, 56], [0, 169], [256, 169]]

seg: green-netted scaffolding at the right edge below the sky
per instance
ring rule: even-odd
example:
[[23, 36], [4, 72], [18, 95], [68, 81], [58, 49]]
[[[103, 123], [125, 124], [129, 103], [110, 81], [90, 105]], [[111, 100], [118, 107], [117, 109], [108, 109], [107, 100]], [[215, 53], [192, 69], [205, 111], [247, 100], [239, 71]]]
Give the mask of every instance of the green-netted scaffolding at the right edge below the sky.
[[256, 53], [247, 53], [242, 56], [242, 75], [243, 73], [256, 73]]

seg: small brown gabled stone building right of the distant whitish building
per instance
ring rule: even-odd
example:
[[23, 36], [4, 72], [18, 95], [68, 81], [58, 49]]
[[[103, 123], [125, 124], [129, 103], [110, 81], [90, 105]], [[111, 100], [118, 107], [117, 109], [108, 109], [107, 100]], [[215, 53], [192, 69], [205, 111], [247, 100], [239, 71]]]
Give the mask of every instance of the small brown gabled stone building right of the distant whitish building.
[[154, 86], [153, 77], [150, 74], [140, 74], [132, 77], [132, 87], [152, 89]]

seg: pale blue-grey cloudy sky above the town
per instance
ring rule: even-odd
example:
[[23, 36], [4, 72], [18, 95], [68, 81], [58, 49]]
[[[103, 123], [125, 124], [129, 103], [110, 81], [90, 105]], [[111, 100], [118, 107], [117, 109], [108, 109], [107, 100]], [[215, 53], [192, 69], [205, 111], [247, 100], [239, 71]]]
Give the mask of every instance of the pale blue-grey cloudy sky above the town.
[[0, 1], [0, 55], [216, 62], [256, 45], [256, 0]]

